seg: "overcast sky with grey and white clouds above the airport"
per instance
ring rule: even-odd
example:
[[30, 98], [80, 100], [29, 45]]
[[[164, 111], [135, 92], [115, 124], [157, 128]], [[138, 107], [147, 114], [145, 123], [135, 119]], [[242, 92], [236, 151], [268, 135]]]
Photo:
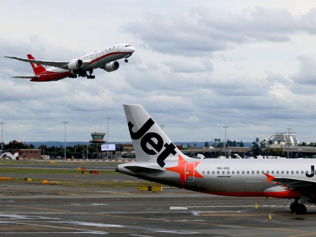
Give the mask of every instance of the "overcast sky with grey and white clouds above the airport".
[[[0, 57], [3, 140], [88, 141], [95, 124], [129, 141], [123, 103], [142, 104], [173, 141], [253, 141], [292, 128], [316, 141], [314, 0], [17, 1], [0, 8], [0, 54], [70, 60], [117, 43], [136, 51], [95, 80], [34, 83]], [[99, 125], [97, 130], [99, 130]]]

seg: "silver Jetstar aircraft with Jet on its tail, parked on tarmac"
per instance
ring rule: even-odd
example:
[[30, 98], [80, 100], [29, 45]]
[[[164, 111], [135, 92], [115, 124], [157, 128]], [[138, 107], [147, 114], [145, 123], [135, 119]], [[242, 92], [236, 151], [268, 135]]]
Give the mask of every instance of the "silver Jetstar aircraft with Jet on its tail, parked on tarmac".
[[193, 191], [294, 199], [291, 212], [316, 202], [315, 159], [194, 159], [180, 152], [141, 105], [123, 105], [137, 162], [116, 171]]

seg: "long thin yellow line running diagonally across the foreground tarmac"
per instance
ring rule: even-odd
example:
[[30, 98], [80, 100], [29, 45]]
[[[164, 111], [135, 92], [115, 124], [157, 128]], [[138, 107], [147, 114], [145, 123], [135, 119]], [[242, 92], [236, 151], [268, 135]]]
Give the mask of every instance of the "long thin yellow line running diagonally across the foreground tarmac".
[[[128, 219], [137, 219], [137, 220], [160, 220], [166, 222], [180, 222], [180, 223], [192, 223], [192, 224], [201, 224], [201, 225], [212, 225], [212, 226], [225, 226], [225, 227], [235, 227], [235, 228], [256, 228], [256, 229], [268, 229], [268, 230], [280, 230], [285, 232], [307, 232], [305, 230], [296, 230], [296, 229], [285, 229], [285, 228], [276, 228], [276, 227], [259, 227], [259, 226], [243, 226], [243, 225], [227, 225], [227, 224], [218, 224], [218, 223], [205, 223], [205, 222], [197, 222], [197, 221], [188, 221], [188, 220], [166, 220], [161, 218], [146, 218], [146, 217], [130, 217], [130, 216], [120, 216], [120, 215], [110, 215], [110, 214], [99, 214], [99, 213], [88, 213], [88, 212], [77, 212], [77, 211], [67, 211], [67, 210], [58, 210], [58, 209], [50, 209], [50, 208], [40, 208], [40, 207], [31, 207], [31, 206], [23, 206], [23, 205], [6, 205], [17, 208], [25, 208], [25, 209], [35, 209], [35, 210], [45, 210], [45, 211], [55, 211], [55, 212], [64, 212], [64, 213], [77, 213], [82, 215], [92, 215], [92, 216], [104, 216], [104, 217], [117, 217], [117, 218], [128, 218]], [[313, 233], [315, 234], [315, 233]], [[298, 236], [303, 236], [298, 235]], [[312, 235], [310, 233], [306, 235]], [[298, 237], [292, 236], [292, 237]]]

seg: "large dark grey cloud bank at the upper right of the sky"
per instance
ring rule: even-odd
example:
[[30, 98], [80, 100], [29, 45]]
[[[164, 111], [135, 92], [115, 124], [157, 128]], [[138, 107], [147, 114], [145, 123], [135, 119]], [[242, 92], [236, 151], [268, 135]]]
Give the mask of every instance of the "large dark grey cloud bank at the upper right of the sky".
[[242, 14], [192, 9], [177, 16], [151, 13], [127, 24], [131, 32], [155, 51], [178, 55], [211, 55], [234, 43], [289, 41], [291, 34], [316, 33], [315, 9], [295, 16], [287, 10], [257, 7]]

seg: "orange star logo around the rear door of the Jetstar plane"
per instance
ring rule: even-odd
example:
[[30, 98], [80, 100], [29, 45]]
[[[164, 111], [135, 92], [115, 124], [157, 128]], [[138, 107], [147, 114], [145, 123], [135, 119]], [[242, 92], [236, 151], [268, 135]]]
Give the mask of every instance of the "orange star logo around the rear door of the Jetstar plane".
[[[195, 170], [195, 167], [200, 163], [200, 161], [194, 161], [194, 162], [187, 162], [185, 159], [182, 158], [181, 155], [179, 155], [178, 159], [178, 165], [174, 167], [166, 168], [167, 170], [170, 170], [172, 172], [176, 172], [180, 174], [180, 183], [181, 186], [184, 185], [184, 182], [190, 177], [198, 177], [198, 178], [204, 178], [199, 172]], [[187, 164], [187, 166], [186, 166]], [[190, 164], [190, 165], [188, 165]], [[193, 165], [194, 164], [194, 165]]]

